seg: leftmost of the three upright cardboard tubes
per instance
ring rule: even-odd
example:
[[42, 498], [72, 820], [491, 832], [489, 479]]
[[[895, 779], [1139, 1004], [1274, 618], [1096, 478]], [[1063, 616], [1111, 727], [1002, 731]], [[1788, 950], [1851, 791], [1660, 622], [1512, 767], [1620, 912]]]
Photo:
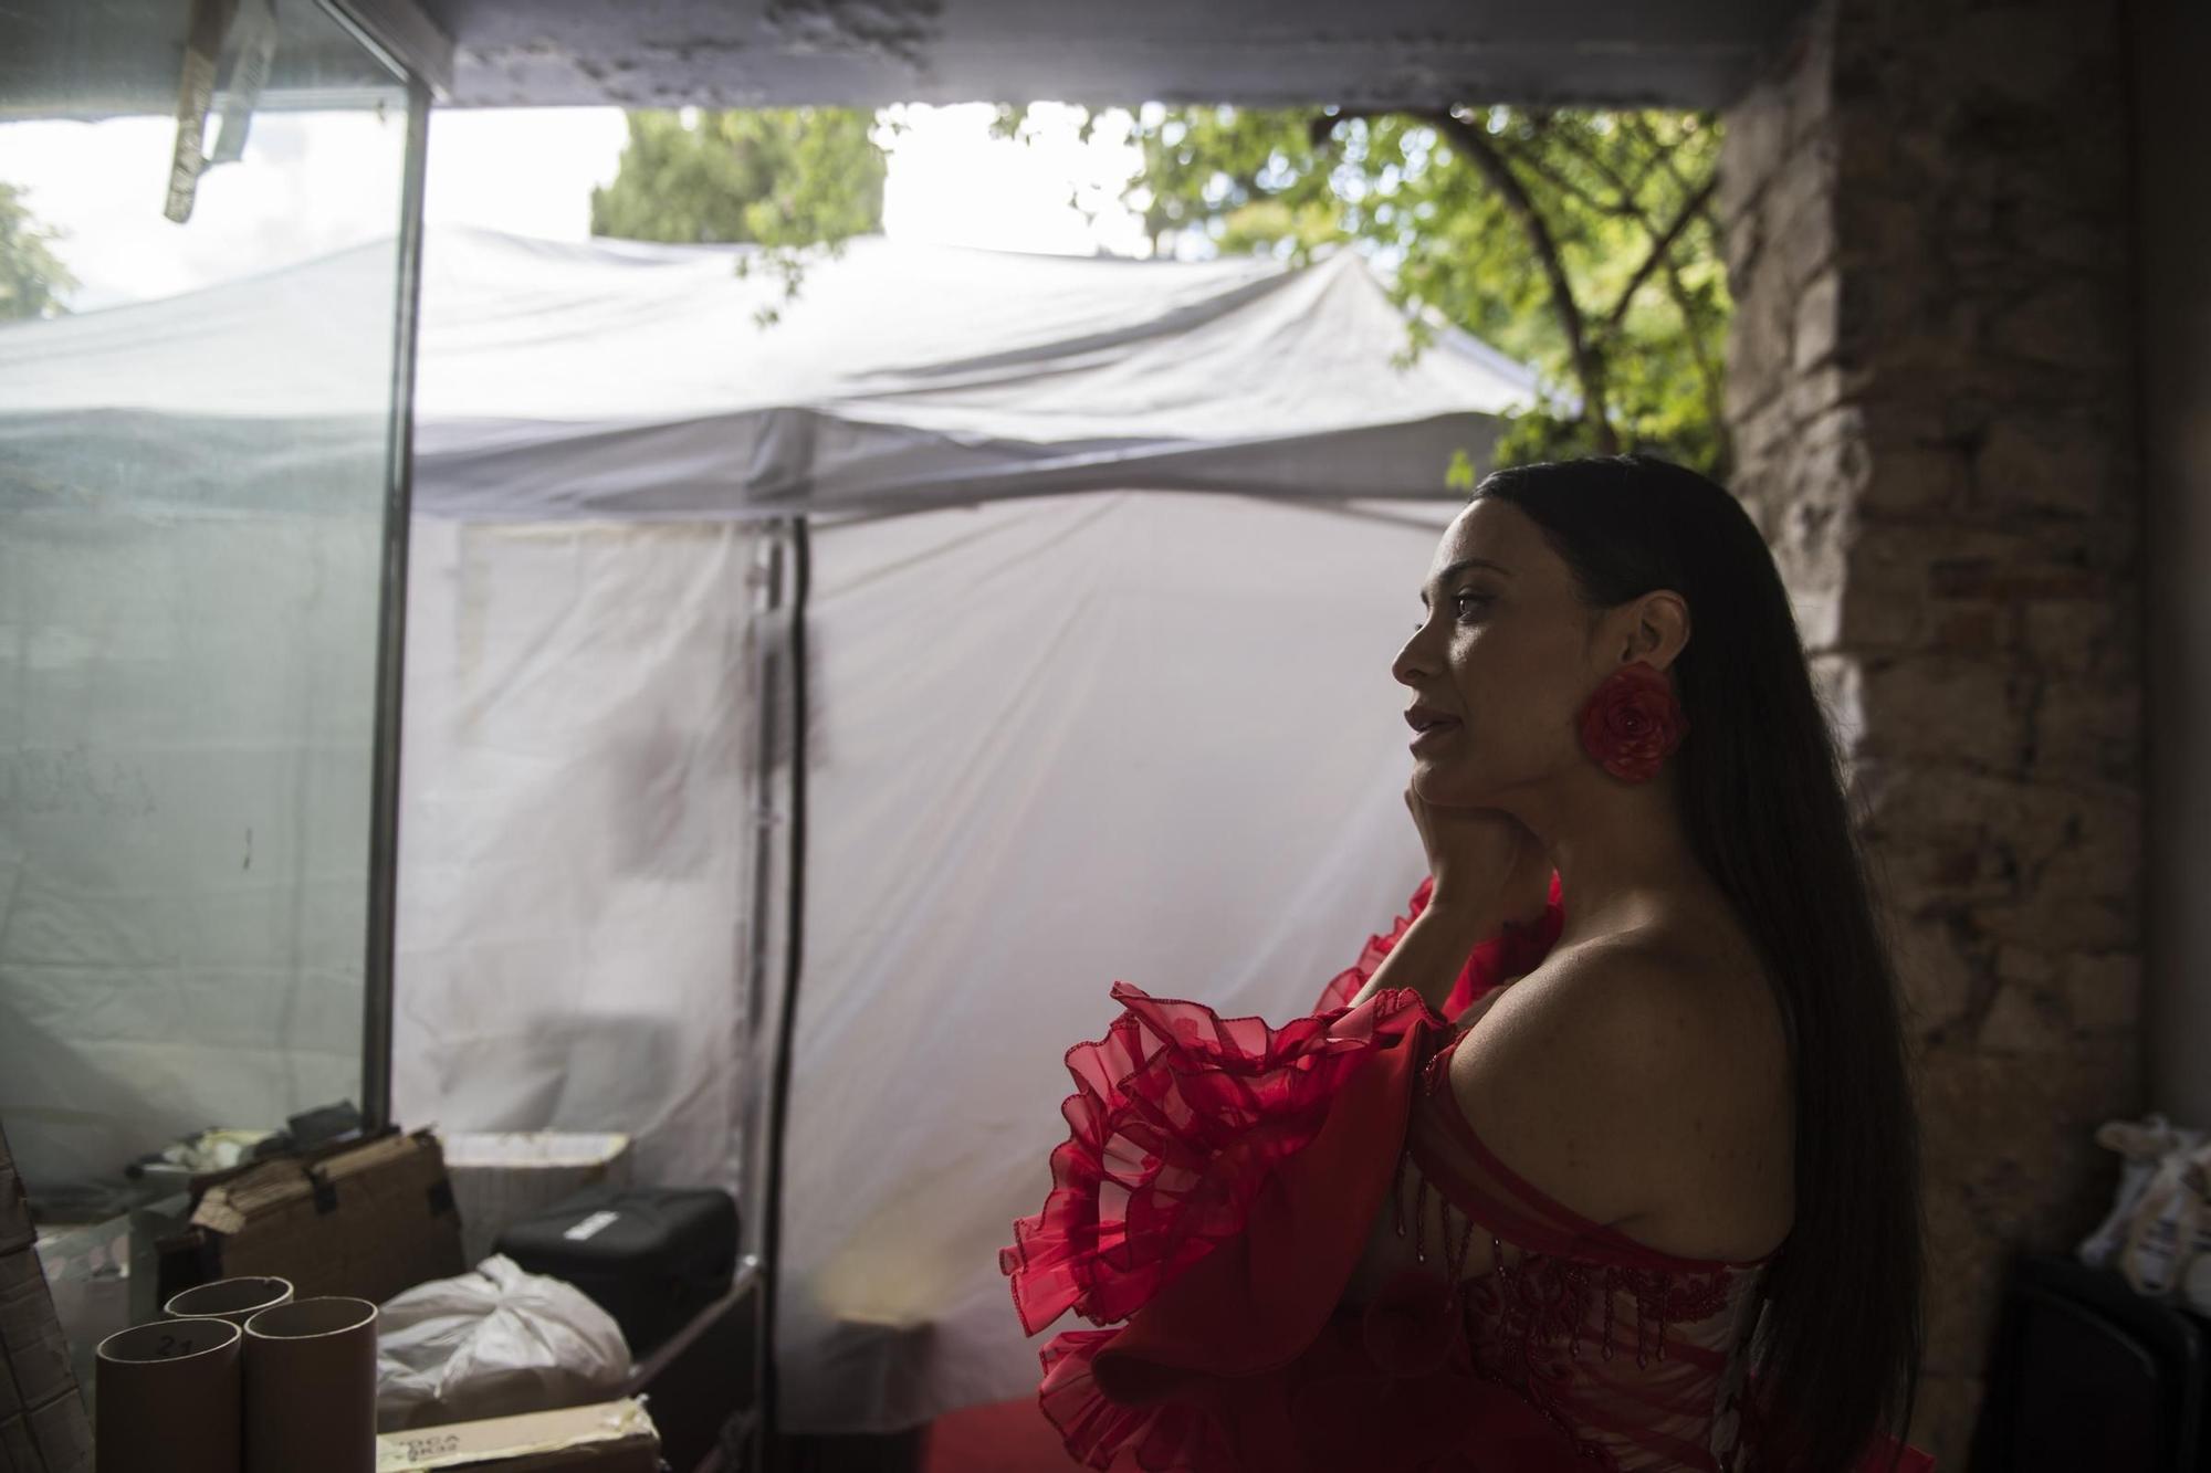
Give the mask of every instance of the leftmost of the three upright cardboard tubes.
[[161, 1320], [99, 1343], [97, 1473], [239, 1473], [230, 1320]]

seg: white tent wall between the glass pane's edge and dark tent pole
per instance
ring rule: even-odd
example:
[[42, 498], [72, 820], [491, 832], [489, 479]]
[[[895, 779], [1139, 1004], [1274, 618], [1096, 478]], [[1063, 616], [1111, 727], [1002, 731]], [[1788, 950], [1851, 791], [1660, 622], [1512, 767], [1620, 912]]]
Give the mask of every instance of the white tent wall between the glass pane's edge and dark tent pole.
[[411, 564], [394, 1115], [734, 1185], [752, 533], [418, 520]]

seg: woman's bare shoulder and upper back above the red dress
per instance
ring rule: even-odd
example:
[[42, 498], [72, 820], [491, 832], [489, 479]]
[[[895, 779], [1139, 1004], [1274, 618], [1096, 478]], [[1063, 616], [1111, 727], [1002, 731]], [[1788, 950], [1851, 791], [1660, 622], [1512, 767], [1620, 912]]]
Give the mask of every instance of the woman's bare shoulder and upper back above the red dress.
[[1450, 1088], [1506, 1166], [1654, 1247], [1756, 1256], [1786, 1232], [1778, 1011], [1725, 940], [1557, 951], [1457, 1046]]

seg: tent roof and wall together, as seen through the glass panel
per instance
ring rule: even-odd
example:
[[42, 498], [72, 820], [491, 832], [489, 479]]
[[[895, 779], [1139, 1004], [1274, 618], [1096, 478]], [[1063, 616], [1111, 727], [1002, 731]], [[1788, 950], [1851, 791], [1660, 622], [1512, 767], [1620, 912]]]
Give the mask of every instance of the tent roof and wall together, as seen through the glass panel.
[[0, 327], [0, 1117], [57, 1221], [360, 1099], [396, 250], [312, 281]]

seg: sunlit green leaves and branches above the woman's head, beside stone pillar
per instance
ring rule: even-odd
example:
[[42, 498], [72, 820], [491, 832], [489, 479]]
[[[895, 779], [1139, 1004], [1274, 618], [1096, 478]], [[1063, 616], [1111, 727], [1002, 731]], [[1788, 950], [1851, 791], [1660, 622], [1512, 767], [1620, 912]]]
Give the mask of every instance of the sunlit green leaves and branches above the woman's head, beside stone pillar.
[[[1094, 122], [1094, 119], [1092, 119]], [[999, 128], [1019, 133], [1021, 108]], [[1123, 195], [1163, 254], [1358, 245], [1415, 318], [1534, 363], [1499, 462], [1649, 449], [1729, 462], [1720, 128], [1694, 113], [1148, 108]]]

